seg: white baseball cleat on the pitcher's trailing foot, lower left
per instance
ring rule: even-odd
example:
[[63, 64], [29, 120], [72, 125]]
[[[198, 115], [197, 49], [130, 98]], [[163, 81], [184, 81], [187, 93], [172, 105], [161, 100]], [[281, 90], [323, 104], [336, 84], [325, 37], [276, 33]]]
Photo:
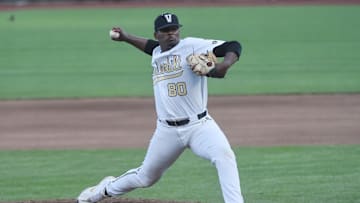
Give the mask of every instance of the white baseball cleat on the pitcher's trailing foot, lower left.
[[106, 197], [109, 197], [105, 195], [105, 187], [113, 180], [115, 180], [115, 177], [108, 176], [102, 179], [99, 184], [86, 188], [80, 193], [79, 197], [77, 198], [77, 202], [95, 203]]

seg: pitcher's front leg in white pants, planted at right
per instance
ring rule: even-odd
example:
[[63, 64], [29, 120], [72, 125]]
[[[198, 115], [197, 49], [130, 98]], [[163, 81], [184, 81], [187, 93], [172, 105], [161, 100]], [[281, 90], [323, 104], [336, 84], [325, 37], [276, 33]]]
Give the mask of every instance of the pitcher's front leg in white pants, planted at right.
[[196, 127], [189, 143], [191, 150], [216, 167], [225, 203], [243, 203], [236, 157], [226, 136], [211, 117]]

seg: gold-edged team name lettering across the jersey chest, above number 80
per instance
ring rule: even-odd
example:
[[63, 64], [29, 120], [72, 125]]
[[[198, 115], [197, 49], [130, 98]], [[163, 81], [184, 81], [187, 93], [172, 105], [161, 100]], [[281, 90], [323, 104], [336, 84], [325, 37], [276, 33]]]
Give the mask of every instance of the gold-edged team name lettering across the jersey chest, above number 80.
[[156, 67], [153, 69], [153, 82], [180, 77], [184, 71], [181, 66], [179, 55], [170, 55], [159, 58], [155, 61]]

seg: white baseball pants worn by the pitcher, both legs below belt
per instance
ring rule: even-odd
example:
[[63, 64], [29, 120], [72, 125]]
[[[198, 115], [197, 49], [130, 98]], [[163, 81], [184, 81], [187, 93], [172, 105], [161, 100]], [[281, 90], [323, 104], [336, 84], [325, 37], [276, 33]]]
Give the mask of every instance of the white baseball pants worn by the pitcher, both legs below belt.
[[234, 152], [209, 115], [178, 127], [158, 121], [142, 165], [117, 177], [107, 186], [107, 193], [118, 196], [153, 185], [186, 148], [216, 167], [225, 203], [244, 202]]

